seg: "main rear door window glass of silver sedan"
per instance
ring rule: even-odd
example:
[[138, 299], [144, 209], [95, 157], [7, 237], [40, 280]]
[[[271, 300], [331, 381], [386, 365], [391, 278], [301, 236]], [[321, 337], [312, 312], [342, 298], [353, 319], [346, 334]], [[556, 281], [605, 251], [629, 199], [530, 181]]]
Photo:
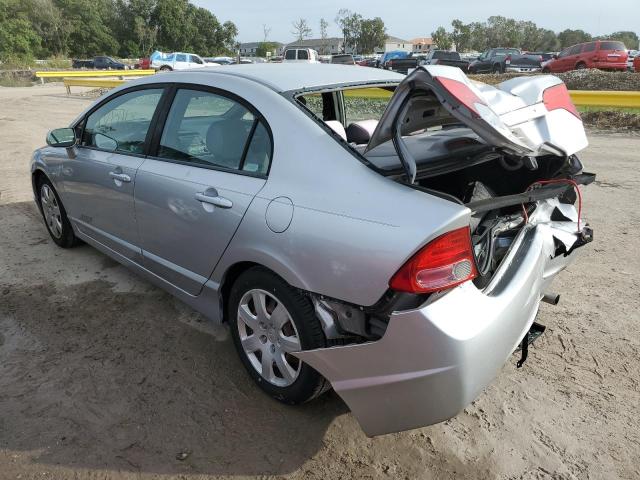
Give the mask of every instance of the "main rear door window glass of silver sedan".
[[178, 90], [160, 139], [158, 156], [240, 169], [254, 121], [251, 111], [227, 97]]

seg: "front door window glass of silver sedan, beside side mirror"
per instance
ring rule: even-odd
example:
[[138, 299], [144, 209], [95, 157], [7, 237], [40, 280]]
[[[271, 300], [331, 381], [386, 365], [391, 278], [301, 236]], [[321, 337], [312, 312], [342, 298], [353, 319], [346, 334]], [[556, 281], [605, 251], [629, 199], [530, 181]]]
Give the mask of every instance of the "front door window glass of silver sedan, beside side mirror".
[[137, 90], [107, 102], [87, 118], [82, 145], [141, 154], [162, 89]]

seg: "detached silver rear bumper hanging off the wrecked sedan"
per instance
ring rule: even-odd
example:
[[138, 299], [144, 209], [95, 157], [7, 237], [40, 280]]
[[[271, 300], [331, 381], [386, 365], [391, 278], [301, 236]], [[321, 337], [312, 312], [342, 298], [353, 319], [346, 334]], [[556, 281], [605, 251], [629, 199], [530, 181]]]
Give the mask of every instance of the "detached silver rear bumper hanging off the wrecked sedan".
[[[548, 219], [557, 205], [547, 203], [537, 214]], [[520, 345], [549, 284], [575, 257], [575, 221], [531, 222], [483, 290], [467, 282], [395, 312], [378, 341], [296, 356], [331, 382], [369, 436], [453, 417]]]

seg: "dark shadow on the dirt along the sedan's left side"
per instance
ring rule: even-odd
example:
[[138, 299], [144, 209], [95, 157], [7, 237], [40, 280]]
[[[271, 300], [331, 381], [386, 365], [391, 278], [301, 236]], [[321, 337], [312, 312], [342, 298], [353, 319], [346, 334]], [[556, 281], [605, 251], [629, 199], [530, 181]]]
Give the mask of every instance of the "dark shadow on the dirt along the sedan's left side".
[[[100, 278], [114, 267], [88, 246], [48, 255], [56, 247], [39, 242], [46, 233], [35, 207], [0, 206], [0, 218], [11, 209], [29, 211], [30, 248], [43, 249], [33, 255], [47, 272], [81, 255], [96, 278], [0, 277], [0, 448], [71, 468], [284, 474], [317, 453], [347, 411], [333, 393], [301, 407], [271, 400], [250, 382], [224, 328], [212, 334], [179, 321], [188, 309], [150, 285], [121, 291]], [[15, 268], [6, 240], [0, 264]]]

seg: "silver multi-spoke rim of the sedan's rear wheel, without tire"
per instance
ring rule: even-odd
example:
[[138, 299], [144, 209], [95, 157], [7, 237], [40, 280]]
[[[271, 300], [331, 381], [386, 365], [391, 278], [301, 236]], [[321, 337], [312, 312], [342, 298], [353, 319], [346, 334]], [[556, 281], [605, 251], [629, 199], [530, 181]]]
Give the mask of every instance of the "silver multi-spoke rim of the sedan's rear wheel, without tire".
[[293, 384], [302, 362], [292, 353], [302, 348], [284, 304], [265, 290], [252, 289], [240, 299], [237, 317], [240, 343], [256, 372], [278, 387]]

